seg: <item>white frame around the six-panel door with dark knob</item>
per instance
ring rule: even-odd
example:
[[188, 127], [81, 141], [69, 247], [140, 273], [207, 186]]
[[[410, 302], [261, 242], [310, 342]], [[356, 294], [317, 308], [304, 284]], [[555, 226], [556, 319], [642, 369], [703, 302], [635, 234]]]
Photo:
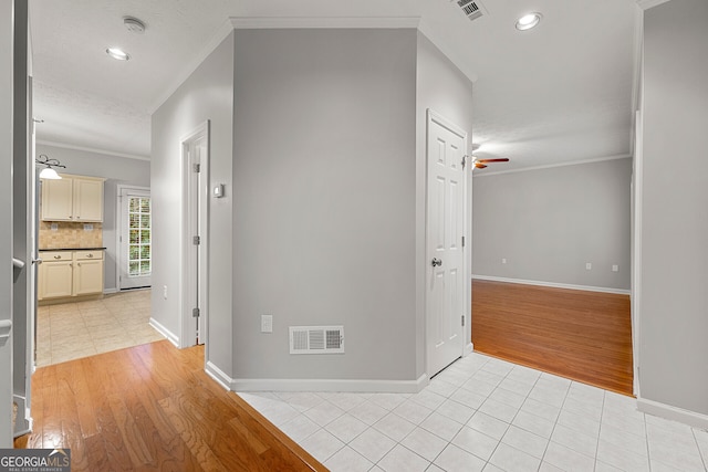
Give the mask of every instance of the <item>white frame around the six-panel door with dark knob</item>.
[[[470, 285], [470, 281], [471, 281], [471, 218], [469, 212], [471, 211], [471, 158], [470, 158], [470, 154], [469, 153], [469, 145], [468, 145], [468, 134], [465, 129], [460, 128], [459, 126], [457, 126], [455, 123], [452, 123], [451, 120], [445, 118], [442, 115], [440, 115], [439, 113], [435, 112], [434, 109], [428, 108], [427, 109], [427, 117], [426, 117], [426, 144], [425, 144], [425, 214], [426, 214], [426, 228], [425, 228], [425, 237], [426, 237], [426, 243], [425, 243], [425, 256], [424, 256], [424, 261], [425, 261], [425, 280], [426, 280], [426, 289], [424, 291], [425, 294], [425, 326], [426, 326], [426, 331], [428, 327], [428, 321], [430, 318], [430, 313], [429, 313], [429, 306], [428, 306], [428, 290], [427, 290], [427, 281], [429, 277], [429, 268], [428, 264], [430, 263], [430, 260], [428, 258], [428, 224], [430, 223], [429, 221], [429, 214], [428, 214], [428, 143], [430, 139], [430, 125], [433, 124], [433, 122], [437, 122], [440, 125], [445, 126], [446, 128], [452, 130], [454, 133], [458, 134], [459, 136], [462, 137], [462, 141], [464, 141], [464, 149], [465, 149], [465, 159], [467, 165], [465, 166], [465, 178], [464, 178], [464, 189], [462, 189], [462, 235], [465, 238], [465, 245], [462, 248], [462, 280], [465, 282], [465, 290], [462, 290], [462, 306], [464, 306], [464, 311], [465, 311], [465, 324], [461, 326], [461, 331], [462, 331], [462, 349], [460, 352], [460, 356], [466, 356], [468, 354], [470, 354], [472, 352], [472, 344], [471, 344], [471, 326], [470, 326], [470, 321], [471, 321], [471, 316], [470, 316], [470, 311], [471, 311], [471, 285]], [[426, 359], [426, 371], [428, 377], [430, 377], [431, 375], [435, 375], [437, 373], [431, 373], [430, 371], [430, 366], [429, 366], [429, 349], [428, 349], [428, 343], [427, 343], [427, 335], [426, 335], [426, 342], [425, 342], [425, 349], [426, 349], [426, 355], [425, 355], [425, 359]]]

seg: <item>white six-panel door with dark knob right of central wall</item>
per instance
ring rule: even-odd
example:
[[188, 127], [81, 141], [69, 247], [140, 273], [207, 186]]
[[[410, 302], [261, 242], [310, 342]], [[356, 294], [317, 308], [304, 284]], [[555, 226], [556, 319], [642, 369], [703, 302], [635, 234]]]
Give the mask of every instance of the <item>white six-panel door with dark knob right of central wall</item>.
[[465, 347], [464, 235], [467, 134], [428, 111], [426, 344], [429, 376]]

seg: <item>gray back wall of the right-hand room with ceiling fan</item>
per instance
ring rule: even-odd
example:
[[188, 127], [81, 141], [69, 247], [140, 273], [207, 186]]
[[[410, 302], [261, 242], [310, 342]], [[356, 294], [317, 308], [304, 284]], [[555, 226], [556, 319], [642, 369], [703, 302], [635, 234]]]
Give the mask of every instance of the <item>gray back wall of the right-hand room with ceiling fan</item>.
[[629, 158], [475, 172], [475, 275], [629, 290]]

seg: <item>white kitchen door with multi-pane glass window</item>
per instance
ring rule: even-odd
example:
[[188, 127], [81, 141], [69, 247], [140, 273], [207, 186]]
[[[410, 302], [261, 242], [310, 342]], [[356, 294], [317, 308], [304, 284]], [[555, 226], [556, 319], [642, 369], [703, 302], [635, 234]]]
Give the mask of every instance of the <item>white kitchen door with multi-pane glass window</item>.
[[119, 187], [118, 289], [150, 286], [153, 216], [149, 189]]

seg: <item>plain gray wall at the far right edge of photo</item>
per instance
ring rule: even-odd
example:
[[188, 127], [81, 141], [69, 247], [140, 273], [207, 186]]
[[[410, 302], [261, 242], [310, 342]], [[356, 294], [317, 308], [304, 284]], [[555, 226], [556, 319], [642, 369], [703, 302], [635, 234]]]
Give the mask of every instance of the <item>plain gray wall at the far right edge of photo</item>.
[[708, 415], [708, 2], [644, 19], [641, 397]]

